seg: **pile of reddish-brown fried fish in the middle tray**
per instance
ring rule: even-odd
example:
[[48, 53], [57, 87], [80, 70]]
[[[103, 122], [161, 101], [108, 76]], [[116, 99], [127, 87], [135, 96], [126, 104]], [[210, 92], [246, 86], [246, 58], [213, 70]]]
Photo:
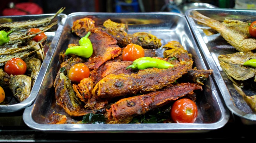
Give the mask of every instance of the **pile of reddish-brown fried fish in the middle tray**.
[[[62, 64], [54, 87], [56, 104], [65, 112], [54, 111], [47, 118], [49, 124], [87, 123], [73, 119], [91, 114], [103, 115], [108, 124], [130, 123], [134, 117], [170, 106], [181, 97], [189, 96], [195, 101], [195, 91], [202, 90], [203, 81], [212, 73], [211, 69], [192, 68], [192, 54], [177, 41], [163, 45], [165, 51], [162, 57], [157, 57], [155, 49], [162, 44], [156, 36], [146, 32], [128, 34], [126, 24], [110, 19], [103, 27], [95, 27], [94, 23], [87, 17], [73, 22], [72, 32], [78, 37], [91, 33], [88, 38], [93, 53], [89, 58], [60, 53]], [[127, 69], [133, 62], [122, 59], [122, 50], [129, 43], [150, 51], [145, 52], [145, 57], [168, 61], [173, 67]], [[77, 45], [72, 43], [67, 48]], [[68, 73], [78, 63], [90, 69], [90, 77], [76, 83], [69, 79]]]

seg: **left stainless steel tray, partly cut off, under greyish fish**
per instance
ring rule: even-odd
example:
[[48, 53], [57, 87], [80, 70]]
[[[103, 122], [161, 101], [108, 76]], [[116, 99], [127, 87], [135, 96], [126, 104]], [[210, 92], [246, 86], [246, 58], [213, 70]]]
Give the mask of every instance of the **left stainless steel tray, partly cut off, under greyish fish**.
[[[20, 15], [20, 16], [1, 16], [0, 20], [1, 22], [5, 21], [8, 19], [8, 21], [11, 19], [11, 22], [18, 22], [18, 21], [24, 21], [24, 20], [37, 20], [37, 19], [42, 19], [42, 18], [46, 18], [46, 17], [50, 17], [50, 16], [54, 16], [55, 14], [42, 14], [42, 15]], [[39, 91], [39, 87], [41, 86], [42, 83], [42, 79], [44, 78], [46, 69], [48, 67], [49, 64], [49, 60], [51, 59], [51, 57], [53, 56], [53, 50], [56, 48], [56, 42], [57, 39], [59, 39], [59, 36], [57, 33], [59, 33], [59, 31], [62, 31], [63, 28], [63, 24], [65, 22], [65, 19], [67, 18], [67, 15], [65, 14], [59, 14], [55, 19], [58, 20], [57, 25], [53, 26], [51, 29], [49, 29], [47, 32], [45, 32], [45, 34], [47, 35], [47, 43], [51, 43], [51, 44], [47, 44], [47, 54], [45, 56], [45, 60], [42, 62], [38, 77], [31, 89], [31, 93], [29, 95], [29, 97], [24, 100], [23, 102], [19, 102], [18, 100], [15, 99], [15, 97], [13, 95], [9, 96], [8, 92], [6, 92], [6, 98], [5, 101], [7, 101], [6, 103], [1, 103], [0, 104], [0, 112], [5, 112], [5, 113], [9, 113], [9, 112], [16, 112], [19, 110], [22, 110], [28, 106], [30, 106], [33, 101], [36, 99], [36, 96], [38, 95], [38, 91]]]

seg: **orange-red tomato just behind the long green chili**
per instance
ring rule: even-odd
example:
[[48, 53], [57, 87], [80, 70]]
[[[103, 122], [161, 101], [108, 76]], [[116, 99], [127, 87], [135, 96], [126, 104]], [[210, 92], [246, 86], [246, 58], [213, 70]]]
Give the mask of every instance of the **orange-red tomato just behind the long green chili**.
[[123, 50], [122, 57], [124, 61], [134, 61], [145, 57], [144, 49], [140, 45], [128, 44]]

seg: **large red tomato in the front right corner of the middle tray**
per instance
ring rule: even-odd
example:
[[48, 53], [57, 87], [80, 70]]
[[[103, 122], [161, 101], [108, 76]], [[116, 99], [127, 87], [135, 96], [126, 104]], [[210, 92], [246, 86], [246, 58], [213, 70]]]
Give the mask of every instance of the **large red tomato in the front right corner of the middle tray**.
[[176, 123], [194, 123], [197, 117], [197, 106], [190, 99], [179, 99], [171, 108], [172, 120]]

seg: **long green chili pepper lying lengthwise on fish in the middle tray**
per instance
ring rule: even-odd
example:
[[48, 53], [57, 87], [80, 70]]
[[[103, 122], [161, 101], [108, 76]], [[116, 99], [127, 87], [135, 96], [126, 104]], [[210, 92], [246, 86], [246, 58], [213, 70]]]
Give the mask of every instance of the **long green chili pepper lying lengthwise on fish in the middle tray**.
[[151, 57], [141, 57], [133, 61], [132, 65], [128, 66], [126, 69], [132, 68], [134, 70], [146, 69], [146, 68], [169, 68], [173, 67], [167, 61], [155, 59]]

